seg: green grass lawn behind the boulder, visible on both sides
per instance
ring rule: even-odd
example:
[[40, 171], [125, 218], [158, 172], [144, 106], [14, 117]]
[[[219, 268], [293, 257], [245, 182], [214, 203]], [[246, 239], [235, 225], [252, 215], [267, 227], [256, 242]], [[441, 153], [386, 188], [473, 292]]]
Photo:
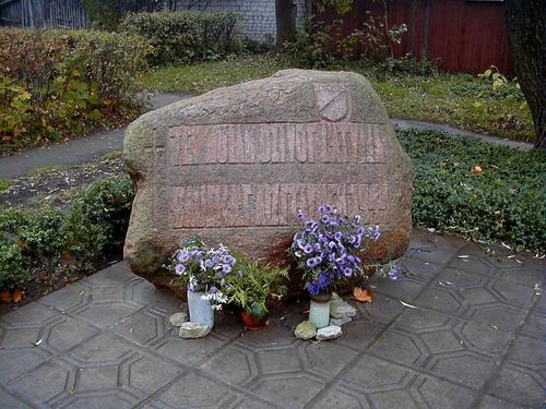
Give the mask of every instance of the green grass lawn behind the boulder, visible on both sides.
[[[158, 93], [202, 94], [287, 68], [286, 62], [272, 56], [164, 67], [146, 75], [142, 87]], [[367, 76], [393, 118], [446, 123], [513, 140], [534, 137], [531, 113], [514, 87], [492, 91], [490, 82], [470, 74], [382, 75], [357, 62], [337, 63], [332, 70]]]

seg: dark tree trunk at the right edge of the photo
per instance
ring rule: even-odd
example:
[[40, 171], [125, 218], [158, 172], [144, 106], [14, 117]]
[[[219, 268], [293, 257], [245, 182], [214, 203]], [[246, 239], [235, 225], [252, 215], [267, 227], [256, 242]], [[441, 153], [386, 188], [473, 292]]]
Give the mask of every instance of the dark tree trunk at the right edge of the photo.
[[536, 147], [546, 148], [546, 1], [506, 0], [515, 75], [533, 117]]

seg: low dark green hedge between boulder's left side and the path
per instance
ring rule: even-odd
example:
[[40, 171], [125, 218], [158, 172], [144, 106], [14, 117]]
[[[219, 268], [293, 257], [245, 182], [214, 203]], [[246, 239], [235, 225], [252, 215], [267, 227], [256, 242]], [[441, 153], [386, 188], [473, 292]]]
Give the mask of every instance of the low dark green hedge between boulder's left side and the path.
[[129, 177], [112, 177], [79, 191], [68, 212], [0, 213], [0, 290], [24, 287], [38, 274], [92, 272], [119, 254], [133, 197]]

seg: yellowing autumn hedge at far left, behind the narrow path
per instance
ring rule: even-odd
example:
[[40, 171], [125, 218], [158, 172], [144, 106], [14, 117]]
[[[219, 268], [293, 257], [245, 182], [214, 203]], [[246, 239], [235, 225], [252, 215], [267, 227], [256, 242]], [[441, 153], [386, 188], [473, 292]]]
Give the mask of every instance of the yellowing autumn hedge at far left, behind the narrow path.
[[134, 117], [152, 50], [131, 35], [0, 28], [0, 152]]

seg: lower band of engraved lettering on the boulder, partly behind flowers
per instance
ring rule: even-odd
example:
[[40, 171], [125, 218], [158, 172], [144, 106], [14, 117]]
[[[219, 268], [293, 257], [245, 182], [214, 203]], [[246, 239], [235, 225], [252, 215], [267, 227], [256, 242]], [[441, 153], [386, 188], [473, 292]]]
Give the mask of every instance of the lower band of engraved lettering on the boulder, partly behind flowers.
[[[343, 214], [360, 214], [365, 222], [388, 222], [385, 183], [217, 184], [169, 190], [174, 204], [169, 218], [175, 229], [290, 226], [298, 208], [312, 214], [322, 203], [334, 204]], [[197, 210], [203, 216], [195, 217]]]

